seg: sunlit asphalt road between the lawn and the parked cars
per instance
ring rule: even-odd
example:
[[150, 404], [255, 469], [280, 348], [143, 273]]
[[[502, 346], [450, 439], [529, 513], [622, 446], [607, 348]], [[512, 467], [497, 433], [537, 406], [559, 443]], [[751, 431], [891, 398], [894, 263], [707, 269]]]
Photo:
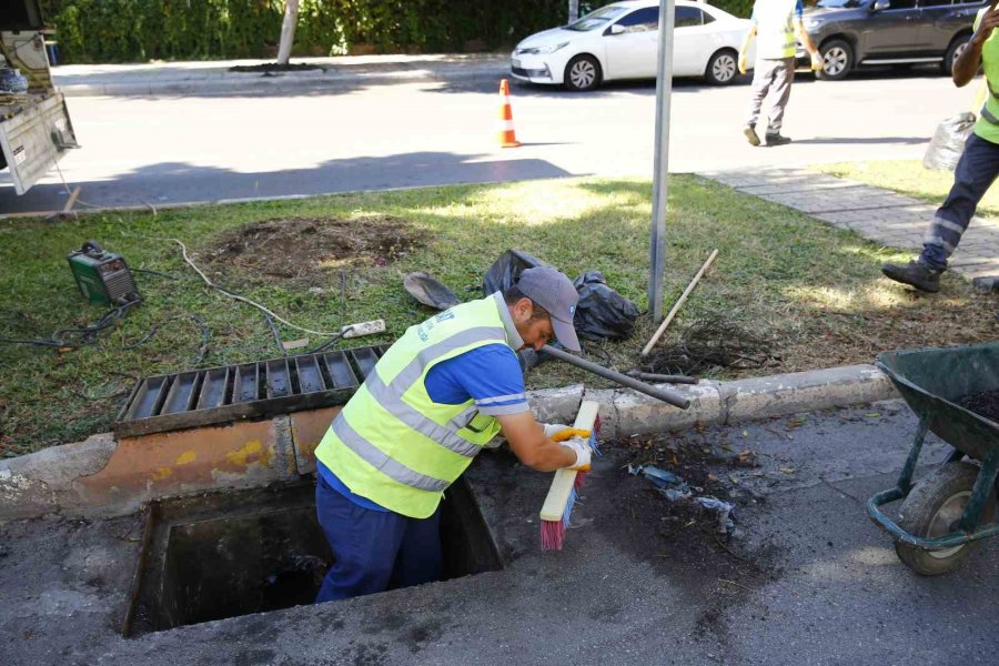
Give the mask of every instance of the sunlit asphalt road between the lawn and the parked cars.
[[[967, 110], [973, 91], [929, 68], [838, 83], [800, 73], [784, 130], [795, 143], [775, 149], [754, 149], [741, 135], [748, 94], [745, 81], [677, 81], [670, 171], [918, 159], [937, 123]], [[497, 147], [498, 101], [492, 75], [259, 95], [71, 98], [83, 149], [61, 169], [82, 185], [82, 206], [652, 174], [653, 82], [589, 94], [515, 85], [518, 149]], [[0, 214], [59, 210], [65, 199], [56, 172], [20, 198], [0, 180]]]

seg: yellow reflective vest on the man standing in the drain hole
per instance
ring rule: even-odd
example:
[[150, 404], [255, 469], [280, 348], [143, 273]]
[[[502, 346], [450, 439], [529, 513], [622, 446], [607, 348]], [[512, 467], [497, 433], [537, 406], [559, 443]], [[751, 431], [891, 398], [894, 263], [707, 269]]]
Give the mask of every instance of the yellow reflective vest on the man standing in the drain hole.
[[471, 398], [435, 403], [426, 374], [476, 347], [508, 345], [500, 307], [494, 294], [411, 326], [333, 420], [316, 458], [356, 495], [405, 516], [432, 515], [500, 423]]

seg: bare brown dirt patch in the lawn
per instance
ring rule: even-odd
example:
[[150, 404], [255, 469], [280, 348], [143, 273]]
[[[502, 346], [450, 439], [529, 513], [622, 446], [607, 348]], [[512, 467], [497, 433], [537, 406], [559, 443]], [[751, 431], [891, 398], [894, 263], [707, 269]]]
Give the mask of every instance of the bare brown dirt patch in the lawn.
[[390, 215], [287, 218], [229, 230], [202, 254], [222, 274], [236, 269], [252, 282], [311, 284], [347, 266], [384, 266], [424, 241], [410, 222]]

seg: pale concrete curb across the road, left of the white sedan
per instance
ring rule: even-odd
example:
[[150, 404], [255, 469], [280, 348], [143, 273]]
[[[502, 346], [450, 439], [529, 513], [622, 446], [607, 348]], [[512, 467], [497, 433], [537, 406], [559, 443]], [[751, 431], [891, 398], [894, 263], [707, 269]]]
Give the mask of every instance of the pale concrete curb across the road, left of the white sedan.
[[[437, 69], [387, 70], [369, 72], [315, 71], [287, 72], [274, 75], [259, 73], [220, 72], [190, 77], [139, 78], [134, 81], [60, 83], [57, 85], [67, 97], [155, 97], [164, 94], [233, 94], [295, 92], [303, 90], [336, 91], [363, 85], [464, 81], [487, 74], [503, 77], [508, 73], [506, 63], [474, 63], [464, 67]], [[127, 77], [123, 77], [127, 78]]]

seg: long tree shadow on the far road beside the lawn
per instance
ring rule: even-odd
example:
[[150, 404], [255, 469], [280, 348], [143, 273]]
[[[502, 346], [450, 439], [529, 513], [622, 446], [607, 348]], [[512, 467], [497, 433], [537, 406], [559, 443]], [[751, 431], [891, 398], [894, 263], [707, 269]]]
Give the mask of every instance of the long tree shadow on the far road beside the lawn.
[[[414, 152], [380, 158], [330, 160], [312, 169], [240, 173], [186, 162], [161, 162], [124, 172], [110, 180], [71, 182], [81, 185], [81, 210], [89, 205], [142, 206], [231, 199], [311, 196], [337, 192], [430, 185], [559, 178], [571, 174], [537, 159], [477, 161], [491, 155]], [[0, 182], [0, 214], [62, 210], [67, 191], [61, 182], [39, 184], [23, 196]]]

